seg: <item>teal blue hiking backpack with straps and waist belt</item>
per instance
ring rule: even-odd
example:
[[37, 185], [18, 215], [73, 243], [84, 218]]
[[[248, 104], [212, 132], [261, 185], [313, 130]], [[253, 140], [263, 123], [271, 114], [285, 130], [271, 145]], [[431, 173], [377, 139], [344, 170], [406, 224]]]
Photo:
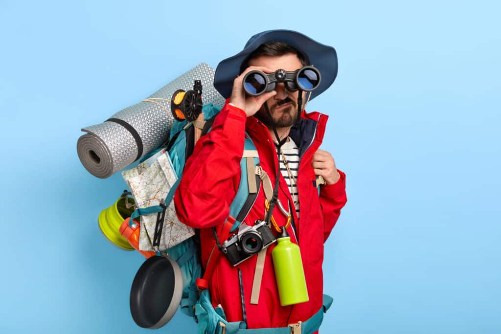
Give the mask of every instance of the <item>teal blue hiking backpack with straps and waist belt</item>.
[[[203, 106], [202, 112], [204, 122], [197, 123], [188, 122], [187, 120], [179, 122], [174, 121], [170, 130], [170, 137], [166, 147], [157, 149], [147, 156], [143, 157], [142, 161], [152, 156], [161, 149], [165, 149], [169, 153], [172, 165], [177, 174], [178, 180], [171, 188], [165, 199], [165, 203], [169, 205], [174, 197], [175, 189], [179, 184], [183, 168], [188, 157], [193, 153], [194, 148], [194, 129], [201, 129], [201, 135], [205, 135], [210, 131], [215, 116], [219, 113], [220, 107], [207, 104]], [[253, 141], [246, 136], [244, 143], [244, 151], [254, 152], [244, 154], [240, 161], [240, 183], [229, 207], [230, 217], [234, 217], [234, 222], [231, 225], [230, 232], [238, 229], [241, 222], [245, 219], [250, 208], [254, 204], [258, 196], [261, 180], [259, 175], [256, 175], [256, 166], [259, 166], [259, 157], [257, 149]], [[249, 187], [250, 182], [250, 187]], [[253, 184], [256, 182], [255, 184]], [[249, 190], [250, 188], [250, 190]], [[151, 214], [162, 211], [159, 205], [148, 208], [136, 209], [132, 215], [132, 219], [145, 214]], [[200, 243], [199, 233], [195, 233], [193, 237], [175, 245], [166, 250], [169, 257], [174, 259], [181, 268], [183, 276], [183, 292], [181, 297], [181, 311], [189, 316], [195, 317], [198, 322], [199, 334], [265, 334], [265, 333], [291, 333], [291, 326], [280, 328], [262, 328], [262, 329], [246, 329], [246, 324], [243, 321], [228, 322], [221, 307], [212, 307], [210, 301], [210, 293], [208, 289], [199, 290], [197, 280], [203, 276], [203, 266], [200, 260]], [[209, 277], [210, 278], [210, 277]], [[324, 295], [323, 307], [309, 320], [300, 323], [303, 333], [312, 333], [320, 327], [323, 313], [327, 311], [332, 303], [332, 298]]]

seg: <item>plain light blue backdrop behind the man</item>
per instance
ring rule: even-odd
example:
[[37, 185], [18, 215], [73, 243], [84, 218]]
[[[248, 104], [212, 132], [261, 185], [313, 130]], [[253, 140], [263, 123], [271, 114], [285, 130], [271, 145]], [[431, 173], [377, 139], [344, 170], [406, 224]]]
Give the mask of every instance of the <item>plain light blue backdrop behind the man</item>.
[[[0, 332], [137, 333], [143, 258], [97, 216], [125, 182], [76, 151], [82, 127], [268, 29], [332, 45], [323, 148], [348, 204], [324, 261], [322, 333], [501, 332], [497, 2], [0, 0]], [[158, 332], [194, 332], [177, 313]]]

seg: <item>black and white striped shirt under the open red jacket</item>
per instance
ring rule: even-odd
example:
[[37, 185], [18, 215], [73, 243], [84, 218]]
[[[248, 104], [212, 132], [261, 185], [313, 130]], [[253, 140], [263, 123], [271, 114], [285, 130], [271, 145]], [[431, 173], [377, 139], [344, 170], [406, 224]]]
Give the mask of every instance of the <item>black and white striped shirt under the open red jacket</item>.
[[[299, 148], [291, 137], [288, 137], [287, 142], [282, 146], [282, 153], [283, 155], [280, 156], [280, 171], [282, 172], [282, 176], [289, 186], [289, 191], [291, 192], [292, 200], [296, 205], [296, 213], [298, 214], [299, 218], [299, 193], [297, 185]], [[287, 169], [287, 167], [289, 167], [289, 170]]]

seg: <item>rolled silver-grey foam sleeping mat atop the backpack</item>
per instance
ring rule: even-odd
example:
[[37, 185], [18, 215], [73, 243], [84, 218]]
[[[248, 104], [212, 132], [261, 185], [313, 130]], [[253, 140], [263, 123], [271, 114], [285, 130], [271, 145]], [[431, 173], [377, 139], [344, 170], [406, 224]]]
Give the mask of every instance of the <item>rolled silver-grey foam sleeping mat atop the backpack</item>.
[[195, 80], [202, 81], [203, 104], [224, 105], [214, 88], [214, 69], [200, 63], [147, 99], [83, 128], [87, 134], [78, 139], [77, 152], [85, 169], [104, 179], [166, 143], [173, 123], [172, 95], [178, 89], [193, 89]]

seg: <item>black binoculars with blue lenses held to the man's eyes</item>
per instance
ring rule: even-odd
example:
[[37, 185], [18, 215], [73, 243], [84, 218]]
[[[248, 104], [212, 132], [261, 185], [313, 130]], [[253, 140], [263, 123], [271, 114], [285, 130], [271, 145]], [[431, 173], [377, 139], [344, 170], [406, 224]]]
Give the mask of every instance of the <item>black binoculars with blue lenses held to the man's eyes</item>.
[[320, 84], [320, 72], [313, 66], [305, 66], [294, 72], [277, 70], [275, 73], [264, 73], [253, 70], [243, 77], [243, 89], [251, 96], [260, 96], [273, 91], [277, 83], [284, 83], [289, 91], [302, 90], [310, 92]]

